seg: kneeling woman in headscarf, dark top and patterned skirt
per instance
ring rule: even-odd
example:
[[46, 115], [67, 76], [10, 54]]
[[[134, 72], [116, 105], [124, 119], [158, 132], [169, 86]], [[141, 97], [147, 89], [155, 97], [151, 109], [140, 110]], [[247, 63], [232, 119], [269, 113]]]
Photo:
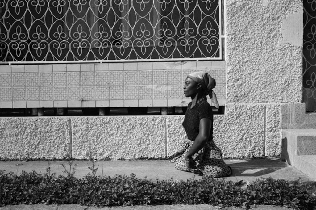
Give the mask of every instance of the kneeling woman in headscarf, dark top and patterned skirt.
[[213, 112], [206, 96], [209, 95], [218, 108], [216, 95], [212, 91], [215, 84], [215, 79], [205, 71], [191, 73], [185, 79], [184, 94], [191, 97], [192, 102], [188, 105], [182, 123], [189, 141], [171, 159], [178, 170], [213, 177], [229, 176], [232, 173], [213, 141]]

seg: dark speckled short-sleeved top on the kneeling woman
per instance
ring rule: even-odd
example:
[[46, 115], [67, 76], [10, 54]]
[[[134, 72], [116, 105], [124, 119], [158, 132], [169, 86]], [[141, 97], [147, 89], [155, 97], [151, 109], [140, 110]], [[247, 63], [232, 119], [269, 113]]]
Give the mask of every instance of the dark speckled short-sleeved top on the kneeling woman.
[[211, 131], [210, 131], [210, 138], [208, 141], [212, 141], [213, 140], [213, 111], [210, 104], [207, 101], [202, 100], [198, 102], [192, 109], [190, 107], [191, 107], [191, 102], [188, 105], [188, 108], [185, 112], [184, 121], [182, 123], [188, 139], [194, 141], [199, 133], [200, 120], [202, 118], [209, 118], [212, 120], [212, 125], [211, 125]]

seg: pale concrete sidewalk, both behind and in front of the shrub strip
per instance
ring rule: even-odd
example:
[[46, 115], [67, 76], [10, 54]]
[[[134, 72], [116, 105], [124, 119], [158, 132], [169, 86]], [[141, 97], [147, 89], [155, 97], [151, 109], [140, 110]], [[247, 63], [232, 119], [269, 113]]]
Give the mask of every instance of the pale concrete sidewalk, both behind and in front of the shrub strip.
[[[271, 159], [250, 159], [250, 160], [225, 160], [225, 162], [233, 169], [233, 175], [225, 177], [226, 181], [246, 181], [252, 182], [260, 177], [272, 177], [275, 179], [285, 179], [289, 181], [297, 180], [300, 178], [301, 182], [314, 181], [310, 177], [306, 176], [299, 170], [296, 170], [293, 166], [286, 164], [280, 160]], [[62, 171], [64, 168], [61, 164], [65, 164], [69, 169], [69, 165], [66, 161], [50, 161], [51, 173], [57, 173], [57, 175], [65, 175]], [[80, 178], [88, 174], [91, 171], [88, 169], [88, 164], [92, 166], [91, 161], [74, 161], [76, 165], [75, 176]], [[186, 180], [189, 178], [201, 179], [202, 176], [198, 176], [192, 173], [176, 170], [173, 163], [167, 160], [136, 160], [136, 161], [96, 161], [96, 167], [98, 167], [97, 176], [114, 176], [116, 174], [127, 175], [134, 173], [139, 178], [151, 179], [151, 180], [166, 180], [171, 177], [175, 180]], [[0, 170], [5, 172], [14, 172], [17, 175], [21, 174], [21, 171], [36, 171], [38, 173], [46, 173], [48, 168], [48, 161], [0, 161]], [[66, 176], [66, 175], [65, 175]], [[202, 209], [226, 209], [226, 210], [241, 210], [243, 208], [229, 207], [220, 208], [210, 205], [161, 205], [161, 206], [133, 206], [133, 207], [86, 207], [79, 205], [17, 205], [17, 206], [5, 206], [0, 210], [202, 210]], [[253, 207], [254, 210], [281, 210], [289, 209], [286, 207], [276, 206], [258, 206]]]

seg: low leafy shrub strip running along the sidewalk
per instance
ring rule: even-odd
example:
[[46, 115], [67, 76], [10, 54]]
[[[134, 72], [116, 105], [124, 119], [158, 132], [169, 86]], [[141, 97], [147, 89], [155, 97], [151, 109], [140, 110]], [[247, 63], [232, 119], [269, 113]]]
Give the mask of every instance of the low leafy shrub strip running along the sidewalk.
[[[73, 174], [72, 174], [73, 175]], [[17, 204], [80, 204], [85, 206], [210, 204], [213, 206], [278, 205], [311, 210], [315, 195], [298, 181], [262, 178], [241, 188], [235, 182], [201, 180], [152, 181], [135, 175], [84, 178], [0, 171], [0, 206]]]

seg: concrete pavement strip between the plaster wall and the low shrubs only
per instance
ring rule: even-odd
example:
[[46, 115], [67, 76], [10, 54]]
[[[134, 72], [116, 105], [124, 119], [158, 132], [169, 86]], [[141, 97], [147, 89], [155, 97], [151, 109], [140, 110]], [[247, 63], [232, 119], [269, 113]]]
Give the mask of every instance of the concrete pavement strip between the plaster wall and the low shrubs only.
[[[233, 169], [233, 174], [225, 179], [226, 181], [246, 181], [252, 182], [260, 177], [272, 177], [275, 179], [285, 179], [294, 181], [300, 179], [301, 181], [314, 181], [309, 176], [301, 171], [295, 169], [293, 166], [283, 162], [279, 159], [248, 159], [248, 160], [225, 160]], [[65, 165], [66, 170], [69, 170], [70, 165], [67, 161], [0, 161], [0, 170], [5, 170], [6, 173], [12, 171], [20, 175], [22, 171], [37, 173], [46, 173], [49, 167], [50, 173], [56, 175], [64, 175]], [[82, 178], [91, 170], [92, 162], [88, 160], [75, 160], [72, 167], [76, 168], [74, 176]], [[146, 178], [151, 180], [187, 180], [190, 178], [201, 179], [202, 176], [195, 175], [190, 172], [176, 170], [173, 163], [168, 160], [115, 160], [115, 161], [96, 161], [95, 166], [98, 167], [96, 176], [115, 176], [126, 175], [130, 176], [132, 173], [138, 178]]]

